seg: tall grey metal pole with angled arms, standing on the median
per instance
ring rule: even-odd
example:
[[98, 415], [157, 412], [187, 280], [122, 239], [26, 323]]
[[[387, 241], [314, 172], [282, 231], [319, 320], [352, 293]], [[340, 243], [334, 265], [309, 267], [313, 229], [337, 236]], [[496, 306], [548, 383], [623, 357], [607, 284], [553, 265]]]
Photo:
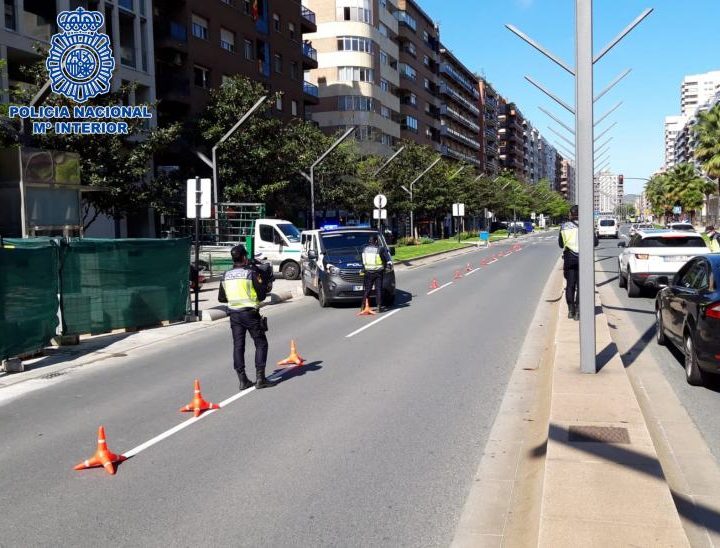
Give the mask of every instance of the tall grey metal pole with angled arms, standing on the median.
[[575, 0], [575, 155], [579, 209], [580, 370], [596, 373], [593, 242], [592, 0]]

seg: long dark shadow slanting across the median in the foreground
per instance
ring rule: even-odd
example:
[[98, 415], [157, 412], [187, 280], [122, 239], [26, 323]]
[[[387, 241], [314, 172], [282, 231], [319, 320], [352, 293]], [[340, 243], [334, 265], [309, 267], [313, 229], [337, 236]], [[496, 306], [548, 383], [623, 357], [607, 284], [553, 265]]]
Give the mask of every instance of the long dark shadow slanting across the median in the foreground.
[[[647, 455], [643, 455], [642, 453], [638, 453], [632, 449], [622, 447], [622, 445], [596, 442], [571, 442], [568, 439], [567, 430], [556, 424], [550, 424], [548, 439], [557, 443], [565, 444], [578, 451], [583, 451], [588, 455], [593, 455], [594, 457], [631, 468], [635, 472], [646, 474], [665, 481], [662, 467], [657, 459], [648, 457]], [[541, 458], [546, 453], [547, 440], [530, 450], [530, 455], [534, 458]], [[675, 507], [682, 517], [705, 527], [710, 531], [720, 532], [720, 513], [704, 504], [695, 502], [690, 497], [675, 492], [672, 489], [670, 490], [670, 493], [675, 502]]]

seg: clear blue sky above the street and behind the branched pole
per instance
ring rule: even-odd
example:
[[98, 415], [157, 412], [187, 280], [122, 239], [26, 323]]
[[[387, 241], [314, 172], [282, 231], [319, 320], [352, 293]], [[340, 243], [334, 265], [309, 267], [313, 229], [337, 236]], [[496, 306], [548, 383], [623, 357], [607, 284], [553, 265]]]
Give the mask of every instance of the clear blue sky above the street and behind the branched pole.
[[[610, 169], [625, 177], [649, 177], [663, 163], [663, 122], [680, 114], [680, 83], [686, 74], [720, 70], [720, 1], [595, 0], [595, 50], [599, 51], [645, 8], [654, 12], [596, 65], [595, 89], [620, 72], [632, 72], [596, 105], [596, 117], [623, 101], [598, 126], [612, 122]], [[525, 81], [530, 75], [568, 103], [574, 102], [572, 77], [505, 28], [511, 23], [574, 65], [574, 0], [420, 0], [440, 24], [446, 47], [473, 71], [484, 74], [497, 90], [517, 103], [550, 140], [562, 142], [557, 128], [538, 107], [572, 118]], [[563, 131], [563, 130], [560, 130]], [[605, 141], [605, 138], [602, 139]], [[627, 181], [637, 193], [642, 181]]]

